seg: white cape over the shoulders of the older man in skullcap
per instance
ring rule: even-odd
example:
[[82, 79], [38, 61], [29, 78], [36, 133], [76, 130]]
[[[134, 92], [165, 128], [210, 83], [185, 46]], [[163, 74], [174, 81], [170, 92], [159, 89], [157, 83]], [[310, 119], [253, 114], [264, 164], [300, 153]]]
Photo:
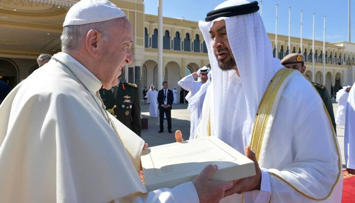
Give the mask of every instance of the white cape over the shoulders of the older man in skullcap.
[[[53, 57], [102, 105], [98, 79], [68, 54]], [[146, 193], [137, 172], [144, 141], [110, 116], [118, 137], [99, 105], [53, 59], [18, 84], [0, 106], [0, 202], [124, 202]], [[195, 191], [192, 183], [185, 187]], [[133, 202], [173, 202], [170, 189], [164, 198], [154, 192]]]

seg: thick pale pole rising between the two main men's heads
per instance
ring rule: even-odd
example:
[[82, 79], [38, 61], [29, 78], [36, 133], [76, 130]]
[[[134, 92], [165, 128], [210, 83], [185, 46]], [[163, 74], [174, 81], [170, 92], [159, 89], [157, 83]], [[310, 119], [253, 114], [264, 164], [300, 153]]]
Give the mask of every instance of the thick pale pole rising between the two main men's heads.
[[163, 0], [158, 0], [158, 83], [157, 90], [163, 83]]

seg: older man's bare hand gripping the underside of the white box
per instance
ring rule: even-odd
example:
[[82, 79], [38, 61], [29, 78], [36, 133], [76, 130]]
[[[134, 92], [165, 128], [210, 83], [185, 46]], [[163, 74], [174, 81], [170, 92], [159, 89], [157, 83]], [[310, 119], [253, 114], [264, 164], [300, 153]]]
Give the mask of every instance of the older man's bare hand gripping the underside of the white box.
[[193, 179], [200, 203], [218, 203], [225, 196], [226, 190], [233, 187], [232, 181], [210, 180], [217, 166], [206, 166], [199, 175]]

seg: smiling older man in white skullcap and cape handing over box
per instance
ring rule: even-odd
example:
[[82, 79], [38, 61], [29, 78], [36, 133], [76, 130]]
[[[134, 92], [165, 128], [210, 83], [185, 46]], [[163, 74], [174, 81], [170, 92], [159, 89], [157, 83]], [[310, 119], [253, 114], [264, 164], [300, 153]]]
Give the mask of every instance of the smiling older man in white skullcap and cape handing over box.
[[0, 106], [1, 203], [206, 203], [233, 182], [192, 182], [146, 191], [139, 176], [144, 141], [104, 108], [99, 89], [131, 63], [133, 30], [106, 0], [68, 11], [62, 51], [18, 84]]

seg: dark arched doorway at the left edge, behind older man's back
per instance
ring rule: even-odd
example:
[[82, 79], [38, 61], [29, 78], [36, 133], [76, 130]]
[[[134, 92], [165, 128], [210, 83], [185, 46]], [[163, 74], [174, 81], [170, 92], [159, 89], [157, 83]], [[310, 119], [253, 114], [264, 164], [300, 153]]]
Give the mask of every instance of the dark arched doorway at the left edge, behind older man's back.
[[5, 58], [0, 58], [0, 80], [5, 81], [11, 88], [18, 83], [18, 67]]

